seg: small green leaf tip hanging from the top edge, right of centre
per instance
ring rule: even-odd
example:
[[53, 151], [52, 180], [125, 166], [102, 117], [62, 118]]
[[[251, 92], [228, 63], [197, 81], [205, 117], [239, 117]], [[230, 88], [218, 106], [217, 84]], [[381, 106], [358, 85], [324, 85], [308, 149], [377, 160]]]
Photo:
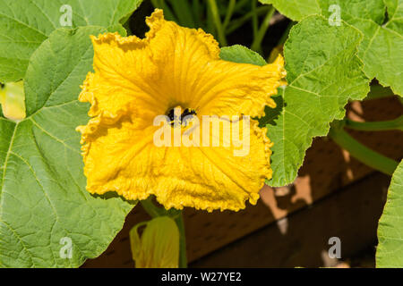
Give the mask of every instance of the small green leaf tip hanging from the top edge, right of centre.
[[279, 13], [293, 21], [300, 21], [304, 17], [321, 13], [317, 0], [259, 0], [262, 4], [273, 4]]

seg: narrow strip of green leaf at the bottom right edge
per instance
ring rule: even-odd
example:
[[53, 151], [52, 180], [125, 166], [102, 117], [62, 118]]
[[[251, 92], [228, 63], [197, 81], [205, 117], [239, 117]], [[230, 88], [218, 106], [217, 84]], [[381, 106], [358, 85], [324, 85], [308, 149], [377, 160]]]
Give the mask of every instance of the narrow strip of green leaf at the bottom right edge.
[[403, 161], [390, 182], [388, 199], [378, 226], [377, 267], [403, 267]]

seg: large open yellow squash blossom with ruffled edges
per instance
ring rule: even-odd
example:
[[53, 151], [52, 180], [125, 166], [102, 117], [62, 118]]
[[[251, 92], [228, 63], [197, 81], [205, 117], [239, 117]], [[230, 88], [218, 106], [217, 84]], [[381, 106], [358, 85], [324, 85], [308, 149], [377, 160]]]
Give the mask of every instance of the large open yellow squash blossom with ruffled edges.
[[[78, 127], [87, 189], [116, 191], [129, 200], [155, 195], [166, 208], [177, 209], [237, 211], [248, 199], [255, 204], [271, 177], [272, 146], [257, 121], [250, 120], [246, 156], [234, 156], [234, 145], [156, 146], [160, 126], [153, 122], [177, 108], [200, 121], [203, 115], [264, 115], [265, 105], [275, 107], [270, 96], [284, 77], [282, 57], [262, 67], [230, 63], [219, 58], [219, 44], [210, 34], [166, 21], [161, 10], [147, 24], [145, 38], [91, 37], [95, 72], [79, 97], [90, 102], [91, 119]], [[242, 125], [241, 134], [247, 128], [242, 119], [230, 121], [234, 124]], [[189, 125], [169, 126], [182, 134]]]

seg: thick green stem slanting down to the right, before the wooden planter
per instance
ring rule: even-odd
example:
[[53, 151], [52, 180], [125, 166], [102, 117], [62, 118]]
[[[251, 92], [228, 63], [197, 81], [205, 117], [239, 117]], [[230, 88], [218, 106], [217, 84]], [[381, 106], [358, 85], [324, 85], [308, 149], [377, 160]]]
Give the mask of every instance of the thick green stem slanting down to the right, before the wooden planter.
[[351, 156], [360, 160], [364, 164], [372, 167], [375, 170], [384, 172], [388, 175], [392, 175], [398, 167], [398, 162], [383, 156], [372, 149], [365, 147], [363, 144], [353, 139], [344, 129], [344, 124], [338, 122], [332, 125], [330, 128], [329, 136], [340, 147], [346, 149]]

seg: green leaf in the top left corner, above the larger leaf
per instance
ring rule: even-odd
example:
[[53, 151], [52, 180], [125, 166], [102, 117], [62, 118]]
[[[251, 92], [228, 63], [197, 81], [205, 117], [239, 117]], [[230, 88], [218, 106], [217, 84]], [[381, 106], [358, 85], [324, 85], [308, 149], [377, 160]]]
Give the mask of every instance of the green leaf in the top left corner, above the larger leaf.
[[[72, 8], [72, 27], [109, 27], [132, 13], [142, 0], [0, 0], [0, 81], [20, 80], [30, 55], [61, 26]], [[69, 28], [69, 27], [65, 27]]]

